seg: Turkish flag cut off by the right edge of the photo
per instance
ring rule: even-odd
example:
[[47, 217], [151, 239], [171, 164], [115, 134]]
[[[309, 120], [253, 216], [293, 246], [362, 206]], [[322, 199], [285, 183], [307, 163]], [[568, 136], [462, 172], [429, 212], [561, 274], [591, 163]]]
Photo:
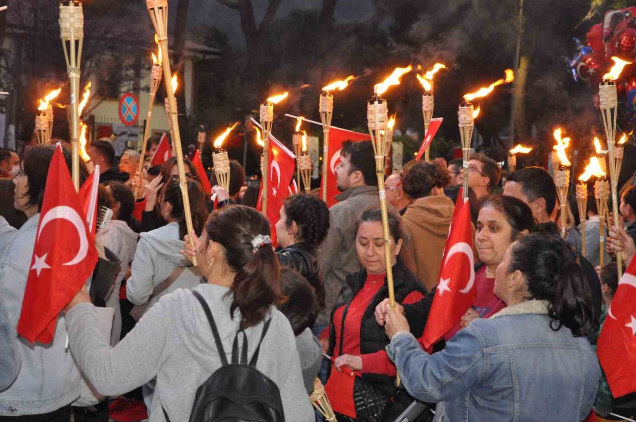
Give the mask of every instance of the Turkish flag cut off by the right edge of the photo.
[[636, 391], [636, 259], [618, 282], [598, 337], [597, 355], [614, 397]]

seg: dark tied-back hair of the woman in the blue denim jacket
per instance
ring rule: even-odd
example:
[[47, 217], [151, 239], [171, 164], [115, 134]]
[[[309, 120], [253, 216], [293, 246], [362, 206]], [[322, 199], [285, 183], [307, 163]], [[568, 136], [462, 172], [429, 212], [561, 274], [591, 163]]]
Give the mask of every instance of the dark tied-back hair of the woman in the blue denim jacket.
[[550, 328], [565, 327], [576, 337], [598, 329], [590, 285], [572, 250], [561, 238], [534, 233], [513, 244], [508, 272], [523, 273], [530, 297], [548, 301]]

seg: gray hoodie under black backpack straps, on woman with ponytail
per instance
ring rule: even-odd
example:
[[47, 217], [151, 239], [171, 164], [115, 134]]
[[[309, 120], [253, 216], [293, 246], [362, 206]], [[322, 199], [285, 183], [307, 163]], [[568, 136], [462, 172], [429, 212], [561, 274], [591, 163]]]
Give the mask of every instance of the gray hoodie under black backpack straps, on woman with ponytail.
[[[230, 318], [232, 296], [226, 296], [229, 289], [205, 283], [193, 290], [209, 304], [230, 360], [240, 315], [237, 311]], [[313, 422], [314, 411], [303, 385], [291, 325], [273, 306], [270, 312], [272, 323], [256, 367], [278, 386], [286, 421]], [[156, 376], [151, 422], [165, 420], [162, 406], [171, 421], [187, 421], [198, 386], [221, 367], [204, 310], [188, 290], [163, 296], [114, 348], [99, 333], [90, 303], [74, 306], [66, 314], [66, 325], [73, 356], [103, 395], [123, 394]], [[245, 330], [249, 357], [262, 330], [263, 322]]]

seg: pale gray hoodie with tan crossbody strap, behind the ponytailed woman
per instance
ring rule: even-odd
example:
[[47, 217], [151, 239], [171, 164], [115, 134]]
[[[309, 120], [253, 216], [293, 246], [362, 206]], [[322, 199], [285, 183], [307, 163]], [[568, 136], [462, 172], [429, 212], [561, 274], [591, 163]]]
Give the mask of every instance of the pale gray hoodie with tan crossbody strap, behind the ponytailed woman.
[[[183, 240], [179, 240], [178, 222], [171, 222], [139, 235], [137, 252], [130, 269], [131, 275], [126, 283], [126, 296], [130, 302], [135, 305], [148, 302], [153, 288], [168, 278], [177, 266], [192, 265], [179, 254], [179, 249], [183, 249], [184, 244]], [[192, 289], [200, 282], [200, 275], [195, 275], [186, 269], [163, 294], [177, 289]], [[158, 300], [159, 297], [153, 297], [150, 300], [151, 306]]]

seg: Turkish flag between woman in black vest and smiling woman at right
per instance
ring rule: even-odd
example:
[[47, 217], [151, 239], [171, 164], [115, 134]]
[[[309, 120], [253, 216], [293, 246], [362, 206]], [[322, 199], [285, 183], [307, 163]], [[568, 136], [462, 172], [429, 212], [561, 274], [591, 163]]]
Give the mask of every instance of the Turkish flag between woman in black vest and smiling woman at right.
[[471, 208], [469, 201], [463, 200], [460, 189], [442, 255], [437, 291], [422, 336], [429, 353], [432, 345], [455, 327], [473, 304], [477, 295], [474, 281]]

